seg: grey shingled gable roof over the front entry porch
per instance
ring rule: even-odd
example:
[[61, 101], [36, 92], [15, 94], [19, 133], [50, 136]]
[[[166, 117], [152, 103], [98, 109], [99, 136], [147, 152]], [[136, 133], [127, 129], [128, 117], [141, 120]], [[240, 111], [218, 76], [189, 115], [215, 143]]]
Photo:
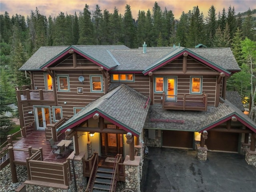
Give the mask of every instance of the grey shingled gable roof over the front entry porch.
[[81, 120], [84, 121], [90, 118], [91, 114], [98, 112], [100, 115], [102, 114], [116, 122], [124, 130], [138, 136], [142, 132], [148, 114], [150, 101], [146, 105], [147, 101], [146, 96], [122, 84], [88, 104], [78, 114], [60, 126], [58, 131], [62, 130], [63, 132], [68, 128], [73, 128], [80, 124]]

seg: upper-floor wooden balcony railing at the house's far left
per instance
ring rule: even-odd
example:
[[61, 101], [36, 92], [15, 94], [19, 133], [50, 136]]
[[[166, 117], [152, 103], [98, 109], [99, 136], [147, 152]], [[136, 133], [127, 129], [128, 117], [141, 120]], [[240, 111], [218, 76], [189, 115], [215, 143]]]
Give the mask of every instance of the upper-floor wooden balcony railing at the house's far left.
[[27, 86], [22, 86], [22, 90], [16, 87], [16, 96], [18, 101], [24, 100], [50, 100], [54, 101], [54, 93], [52, 90], [30, 90]]

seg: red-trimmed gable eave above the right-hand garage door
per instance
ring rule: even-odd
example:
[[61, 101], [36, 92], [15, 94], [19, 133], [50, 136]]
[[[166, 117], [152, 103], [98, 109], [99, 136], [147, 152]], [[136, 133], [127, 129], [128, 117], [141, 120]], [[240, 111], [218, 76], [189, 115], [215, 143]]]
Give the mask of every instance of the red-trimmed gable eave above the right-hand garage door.
[[216, 121], [212, 124], [209, 124], [208, 126], [204, 126], [203, 128], [198, 129], [196, 131], [199, 132], [199, 133], [202, 133], [203, 131], [210, 130], [210, 129], [212, 129], [212, 128], [214, 128], [214, 127], [216, 127], [216, 126], [218, 126], [218, 125], [220, 125], [220, 124], [222, 124], [222, 123], [224, 123], [228, 120], [231, 120], [232, 117], [236, 117], [239, 122], [241, 122], [246, 127], [248, 127], [250, 130], [252, 130], [254, 133], [256, 133], [255, 126], [252, 123], [248, 122], [245, 118], [243, 118], [242, 116], [237, 114], [236, 112], [233, 112], [232, 114], [229, 114], [228, 116], [226, 116], [224, 118], [221, 118], [218, 121]]

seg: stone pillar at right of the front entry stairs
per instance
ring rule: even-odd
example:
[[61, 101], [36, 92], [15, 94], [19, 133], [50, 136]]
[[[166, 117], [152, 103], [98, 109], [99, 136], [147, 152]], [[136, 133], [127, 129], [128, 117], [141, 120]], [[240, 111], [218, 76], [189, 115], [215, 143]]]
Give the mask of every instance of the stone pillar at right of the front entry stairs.
[[140, 192], [140, 156], [135, 156], [134, 160], [130, 160], [130, 156], [126, 155], [124, 160], [125, 166], [125, 188], [132, 189], [134, 192]]

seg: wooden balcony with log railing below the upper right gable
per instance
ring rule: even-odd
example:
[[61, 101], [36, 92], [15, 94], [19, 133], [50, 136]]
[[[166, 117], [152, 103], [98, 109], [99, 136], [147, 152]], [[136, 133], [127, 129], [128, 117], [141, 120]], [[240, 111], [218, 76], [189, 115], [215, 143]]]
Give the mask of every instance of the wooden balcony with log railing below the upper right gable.
[[207, 111], [207, 95], [165, 95], [163, 109]]

